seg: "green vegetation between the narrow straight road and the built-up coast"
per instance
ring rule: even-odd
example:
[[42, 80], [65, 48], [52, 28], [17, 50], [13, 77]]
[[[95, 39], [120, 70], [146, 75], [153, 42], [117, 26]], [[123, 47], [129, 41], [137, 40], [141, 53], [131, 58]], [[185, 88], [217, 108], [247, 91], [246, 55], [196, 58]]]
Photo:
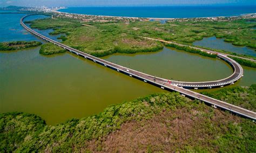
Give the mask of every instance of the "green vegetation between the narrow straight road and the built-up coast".
[[[95, 24], [94, 26], [103, 29], [106, 25], [111, 26], [113, 23]], [[120, 32], [170, 40], [186, 45], [192, 45], [194, 41], [201, 40], [204, 37], [215, 36], [225, 38], [225, 41], [233, 45], [256, 47], [256, 31], [251, 29], [256, 26], [256, 23], [247, 23], [244, 19], [230, 22], [187, 21], [167, 22], [166, 24], [160, 24], [159, 22], [114, 23], [114, 26], [114, 29]], [[233, 54], [231, 52], [225, 53]]]

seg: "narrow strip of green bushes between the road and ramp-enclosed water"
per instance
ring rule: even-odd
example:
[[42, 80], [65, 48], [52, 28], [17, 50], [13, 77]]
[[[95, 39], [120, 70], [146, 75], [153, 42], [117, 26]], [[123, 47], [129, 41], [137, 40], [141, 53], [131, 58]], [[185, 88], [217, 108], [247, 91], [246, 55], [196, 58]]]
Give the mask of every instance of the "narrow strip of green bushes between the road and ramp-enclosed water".
[[217, 54], [203, 52], [203, 51], [200, 51], [200, 50], [197, 50], [197, 49], [194, 49], [191, 47], [187, 47], [187, 46], [180, 46], [180, 45], [176, 45], [176, 44], [165, 44], [165, 46], [173, 47], [173, 48], [176, 48], [177, 50], [183, 50], [183, 51], [190, 52], [190, 53], [200, 54], [205, 57], [217, 58]]

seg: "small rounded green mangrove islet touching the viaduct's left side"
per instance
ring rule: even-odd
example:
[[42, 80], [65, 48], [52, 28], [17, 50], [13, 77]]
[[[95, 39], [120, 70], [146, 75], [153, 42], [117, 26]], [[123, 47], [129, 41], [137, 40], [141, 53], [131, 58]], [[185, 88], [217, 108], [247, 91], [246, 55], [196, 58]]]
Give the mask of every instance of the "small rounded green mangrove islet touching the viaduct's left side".
[[39, 50], [39, 53], [43, 55], [51, 55], [51, 54], [65, 53], [65, 52], [66, 52], [65, 49], [57, 45], [54, 45], [52, 43], [43, 44]]

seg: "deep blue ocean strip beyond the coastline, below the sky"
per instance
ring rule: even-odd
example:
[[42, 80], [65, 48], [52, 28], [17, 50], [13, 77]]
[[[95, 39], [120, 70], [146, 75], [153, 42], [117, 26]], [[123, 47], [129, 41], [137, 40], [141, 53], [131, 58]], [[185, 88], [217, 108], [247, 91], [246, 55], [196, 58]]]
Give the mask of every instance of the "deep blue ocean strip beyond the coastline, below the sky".
[[61, 9], [60, 12], [86, 15], [151, 17], [151, 18], [193, 18], [236, 16], [255, 13], [255, 6], [144, 6], [144, 7], [83, 7]]

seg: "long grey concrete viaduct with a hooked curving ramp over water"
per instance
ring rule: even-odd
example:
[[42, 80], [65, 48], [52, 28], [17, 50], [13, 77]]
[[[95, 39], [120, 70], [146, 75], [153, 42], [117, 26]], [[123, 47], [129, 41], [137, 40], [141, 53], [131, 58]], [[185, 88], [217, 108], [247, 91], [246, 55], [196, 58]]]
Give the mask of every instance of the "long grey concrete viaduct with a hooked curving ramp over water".
[[[30, 16], [30, 15], [28, 15]], [[222, 54], [218, 54], [218, 57], [220, 59], [225, 60], [226, 62], [228, 62], [228, 64], [230, 64], [234, 70], [234, 73], [232, 75], [230, 75], [230, 77], [227, 77], [225, 79], [222, 80], [217, 80], [217, 81], [208, 81], [208, 82], [181, 82], [181, 81], [170, 81], [167, 79], [163, 79], [163, 78], [158, 78], [158, 77], [154, 77], [152, 75], [149, 74], [145, 74], [139, 71], [136, 71], [134, 69], [131, 68], [127, 68], [124, 66], [120, 66], [117, 64], [114, 64], [112, 62], [94, 57], [90, 54], [81, 52], [79, 50], [76, 50], [75, 48], [71, 48], [67, 45], [64, 45], [62, 43], [59, 43], [58, 41], [52, 40], [48, 37], [43, 36], [42, 34], [30, 29], [30, 27], [26, 26], [23, 23], [24, 18], [28, 17], [28, 16], [24, 16], [23, 18], [21, 18], [20, 23], [21, 25], [28, 30], [29, 32], [31, 32], [32, 34], [35, 34], [37, 37], [45, 40], [45, 41], [49, 41], [50, 43], [53, 43], [55, 45], [58, 45], [60, 47], [65, 48], [66, 50], [70, 51], [71, 53], [75, 53], [81, 57], [84, 57], [85, 59], [89, 59], [93, 62], [96, 62], [97, 64], [103, 65], [105, 67], [109, 67], [115, 71], [118, 71], [120, 73], [124, 73], [126, 75], [129, 75], [130, 77], [142, 80], [144, 82], [147, 82], [149, 84], [152, 84], [154, 86], [160, 87], [162, 89], [165, 89], [167, 91], [176, 91], [179, 92], [181, 95], [183, 96], [187, 96], [188, 98], [192, 98], [192, 99], [198, 99], [201, 101], [204, 101], [210, 105], [212, 105], [213, 107], [219, 107], [225, 110], [228, 110], [230, 112], [233, 112], [235, 114], [239, 114], [245, 117], [248, 117], [252, 120], [256, 120], [256, 113], [244, 109], [244, 108], [240, 108], [234, 105], [231, 105], [230, 103], [226, 103], [220, 100], [216, 100], [213, 98], [210, 98], [208, 96], [190, 91], [188, 89], [185, 88], [211, 88], [211, 87], [223, 87], [225, 85], [230, 85], [233, 84], [233, 82], [237, 81], [238, 79], [240, 79], [243, 75], [243, 69], [242, 67], [235, 62], [233, 59], [226, 57], [226, 55], [222, 55]]]

